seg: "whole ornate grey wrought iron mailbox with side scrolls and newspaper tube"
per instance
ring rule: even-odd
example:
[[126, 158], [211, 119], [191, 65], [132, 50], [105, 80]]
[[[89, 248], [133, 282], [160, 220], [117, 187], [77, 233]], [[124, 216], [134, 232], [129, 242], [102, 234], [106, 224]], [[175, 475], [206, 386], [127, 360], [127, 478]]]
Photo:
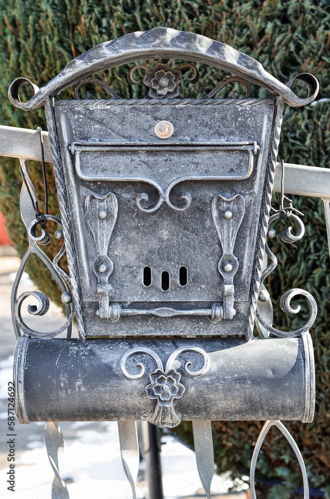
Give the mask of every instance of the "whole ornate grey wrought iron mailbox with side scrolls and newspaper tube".
[[[149, 94], [141, 100], [123, 99], [89, 77], [157, 57], [211, 64], [238, 77], [203, 98], [187, 99], [179, 94], [181, 71], [191, 71], [189, 80], [196, 83], [193, 64], [174, 68], [158, 63], [154, 69], [140, 64], [129, 70], [128, 80], [135, 84], [134, 71], [146, 71]], [[245, 78], [269, 89], [276, 100], [251, 98]], [[41, 89], [24, 78], [9, 88], [15, 106], [45, 106], [61, 212], [59, 220], [38, 214], [38, 207], [31, 211], [28, 194], [34, 208], [36, 197], [23, 162], [21, 208], [30, 248], [22, 268], [31, 251], [45, 261], [36, 243], [47, 244], [49, 236], [43, 231], [37, 237], [36, 226], [55, 220], [61, 226], [56, 237], [64, 237], [64, 243], [53, 273], [68, 312], [62, 328], [38, 333], [23, 322], [21, 304], [33, 294], [39, 306], [29, 311], [43, 315], [48, 299], [26, 292], [14, 300], [17, 330], [23, 333], [15, 354], [17, 418], [21, 423], [119, 421], [133, 494], [136, 468], [124, 455], [127, 445], [136, 445], [131, 422], [172, 428], [181, 420], [193, 421], [197, 465], [209, 497], [210, 421], [267, 420], [252, 462], [255, 497], [255, 461], [270, 425], [276, 424], [294, 446], [278, 420], [313, 420], [309, 328], [316, 317], [315, 300], [301, 289], [286, 292], [284, 311], [298, 312], [300, 307], [290, 301], [303, 294], [311, 316], [296, 331], [279, 331], [272, 326], [263, 285], [276, 266], [266, 242], [267, 235], [275, 236], [269, 225], [290, 216], [297, 234], [289, 228], [282, 240], [291, 243], [304, 234], [292, 206], [270, 217], [284, 103], [301, 106], [318, 93], [312, 75], [296, 78], [307, 84], [305, 99], [291, 90], [293, 80], [282, 84], [254, 59], [223, 43], [155, 28], [92, 48]], [[235, 99], [235, 92], [227, 99], [214, 98], [234, 81], [245, 85], [245, 98]], [[98, 83], [112, 98], [80, 100], [85, 82]], [[18, 95], [23, 83], [35, 90], [26, 103]], [[74, 100], [54, 101], [73, 84]], [[58, 264], [64, 252], [69, 275]], [[70, 328], [67, 339], [50, 339], [74, 315], [80, 339], [70, 338]], [[255, 320], [259, 339], [253, 336]], [[269, 333], [277, 338], [268, 338]], [[222, 338], [227, 335], [231, 338]]]

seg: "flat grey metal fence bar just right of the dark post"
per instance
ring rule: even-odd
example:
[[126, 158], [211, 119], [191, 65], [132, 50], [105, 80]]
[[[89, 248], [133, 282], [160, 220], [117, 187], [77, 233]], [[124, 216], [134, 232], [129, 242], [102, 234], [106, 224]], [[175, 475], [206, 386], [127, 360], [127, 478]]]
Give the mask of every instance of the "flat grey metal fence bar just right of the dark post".
[[211, 422], [193, 421], [192, 431], [199, 478], [207, 499], [211, 499], [211, 482], [214, 475]]

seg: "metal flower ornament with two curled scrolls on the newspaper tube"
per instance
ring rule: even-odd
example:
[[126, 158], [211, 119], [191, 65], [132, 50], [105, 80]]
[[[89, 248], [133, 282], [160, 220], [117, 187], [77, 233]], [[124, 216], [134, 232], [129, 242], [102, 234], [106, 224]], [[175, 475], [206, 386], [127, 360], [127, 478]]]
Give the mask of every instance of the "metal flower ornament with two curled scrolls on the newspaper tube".
[[149, 375], [151, 383], [146, 386], [146, 392], [149, 399], [157, 399], [155, 411], [150, 422], [159, 428], [174, 428], [181, 422], [181, 418], [175, 411], [174, 405], [175, 400], [182, 397], [185, 387], [180, 383], [181, 374], [173, 369], [172, 366], [179, 355], [187, 352], [196, 353], [201, 356], [204, 364], [198, 371], [191, 371], [189, 369], [191, 362], [186, 362], [184, 366], [186, 374], [191, 377], [205, 374], [210, 366], [210, 359], [207, 353], [199, 347], [178, 348], [168, 357], [165, 369], [160, 357], [150, 348], [132, 348], [122, 357], [121, 370], [126, 378], [132, 380], [141, 379], [145, 374], [145, 367], [143, 364], [138, 363], [137, 367], [141, 367], [141, 372], [139, 374], [128, 373], [125, 365], [130, 357], [144, 354], [155, 360], [157, 369]]

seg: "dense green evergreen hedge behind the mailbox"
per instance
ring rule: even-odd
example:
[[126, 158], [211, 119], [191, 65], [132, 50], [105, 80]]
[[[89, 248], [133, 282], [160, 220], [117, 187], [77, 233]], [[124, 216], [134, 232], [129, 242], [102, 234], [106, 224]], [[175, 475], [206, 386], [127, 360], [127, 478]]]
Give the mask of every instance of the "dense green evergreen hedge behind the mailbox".
[[[259, 60], [282, 82], [300, 72], [311, 72], [320, 82], [318, 99], [330, 97], [329, 0], [0, 0], [0, 124], [34, 129], [41, 125], [45, 129], [43, 109], [24, 112], [9, 103], [7, 89], [14, 78], [25, 76], [42, 86], [67, 62], [92, 46], [155, 26], [194, 31], [223, 41]], [[127, 84], [127, 69], [128, 66], [104, 71], [98, 77], [124, 97], [144, 96], [146, 88]], [[181, 86], [191, 97], [205, 95], [225, 76], [213, 67], [198, 64], [198, 69], [199, 83]], [[304, 95], [299, 83], [295, 89]], [[252, 92], [255, 97], [268, 95], [266, 90], [254, 85]], [[21, 94], [25, 99], [30, 95], [25, 88]], [[103, 96], [102, 91], [97, 89], [96, 96]], [[61, 98], [72, 97], [72, 88], [61, 94]], [[290, 163], [329, 167], [329, 111], [328, 101], [298, 109], [286, 106], [279, 158]], [[22, 180], [18, 167], [17, 160], [0, 158], [1, 211], [10, 238], [22, 256], [27, 240], [19, 217]], [[30, 169], [42, 193], [41, 166], [30, 162]], [[51, 165], [47, 174], [50, 213], [59, 215]], [[42, 195], [40, 200], [43, 206]], [[305, 288], [318, 302], [319, 315], [311, 331], [316, 356], [315, 420], [307, 425], [285, 424], [303, 453], [311, 487], [321, 488], [330, 498], [330, 316], [327, 309], [330, 260], [326, 224], [321, 200], [297, 197], [294, 203], [305, 213], [306, 235], [290, 246], [282, 244], [279, 238], [272, 240], [279, 264], [266, 284], [275, 305], [274, 324], [284, 330], [297, 327], [301, 320], [279, 309], [279, 298], [287, 289]], [[277, 228], [281, 228], [281, 222]], [[58, 242], [52, 238], [51, 244], [43, 249], [52, 257], [59, 249]], [[40, 271], [39, 262], [33, 258], [28, 272], [42, 291], [58, 301], [59, 290], [49, 280], [48, 272]], [[304, 313], [307, 317], [307, 310], [300, 315], [304, 317]], [[246, 474], [262, 423], [214, 422], [212, 427], [218, 472], [231, 470], [234, 476]], [[190, 424], [182, 423], [176, 433], [192, 443]], [[267, 437], [263, 451], [258, 460], [257, 477], [281, 479], [284, 486], [273, 487], [269, 498], [289, 498], [292, 487], [302, 480], [288, 443], [274, 430]]]

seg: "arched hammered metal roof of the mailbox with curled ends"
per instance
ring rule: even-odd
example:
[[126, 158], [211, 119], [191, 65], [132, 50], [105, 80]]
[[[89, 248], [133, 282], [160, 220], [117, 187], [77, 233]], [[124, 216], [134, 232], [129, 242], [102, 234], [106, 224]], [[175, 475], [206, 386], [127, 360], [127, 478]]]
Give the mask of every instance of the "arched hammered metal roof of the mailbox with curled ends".
[[[303, 80], [308, 87], [308, 97], [300, 98], [290, 88], [293, 80], [285, 85], [269, 74], [260, 62], [225, 43], [196, 33], [156, 27], [96, 45], [70, 61], [55, 78], [40, 89], [26, 78], [16, 78], [9, 87], [8, 95], [14, 106], [30, 110], [41, 107], [46, 98], [55, 97], [81, 78], [99, 71], [128, 62], [172, 57], [209, 64], [235, 73], [267, 88], [275, 95], [281, 95], [287, 104], [294, 107], [310, 104], [319, 92], [318, 80], [309, 73], [302, 73], [294, 78]], [[20, 102], [18, 91], [24, 83], [32, 87], [34, 95], [27, 102]]]

